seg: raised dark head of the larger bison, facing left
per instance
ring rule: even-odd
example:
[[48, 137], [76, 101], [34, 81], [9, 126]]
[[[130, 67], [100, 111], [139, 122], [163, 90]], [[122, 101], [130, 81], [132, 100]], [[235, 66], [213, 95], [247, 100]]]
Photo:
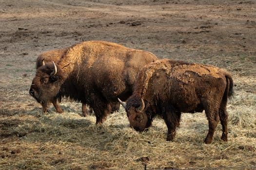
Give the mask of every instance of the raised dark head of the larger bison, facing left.
[[29, 94], [41, 103], [45, 112], [47, 104], [56, 98], [63, 82], [64, 76], [59, 66], [54, 62], [43, 64], [37, 69]]

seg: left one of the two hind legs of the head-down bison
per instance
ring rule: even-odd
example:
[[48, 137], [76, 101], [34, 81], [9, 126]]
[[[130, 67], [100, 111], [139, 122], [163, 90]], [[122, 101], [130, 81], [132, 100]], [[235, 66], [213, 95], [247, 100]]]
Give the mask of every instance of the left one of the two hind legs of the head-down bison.
[[212, 143], [212, 140], [213, 140], [213, 136], [219, 121], [219, 116], [218, 116], [218, 110], [206, 109], [205, 113], [208, 118], [209, 131], [206, 138], [204, 139], [204, 143], [210, 144]]

